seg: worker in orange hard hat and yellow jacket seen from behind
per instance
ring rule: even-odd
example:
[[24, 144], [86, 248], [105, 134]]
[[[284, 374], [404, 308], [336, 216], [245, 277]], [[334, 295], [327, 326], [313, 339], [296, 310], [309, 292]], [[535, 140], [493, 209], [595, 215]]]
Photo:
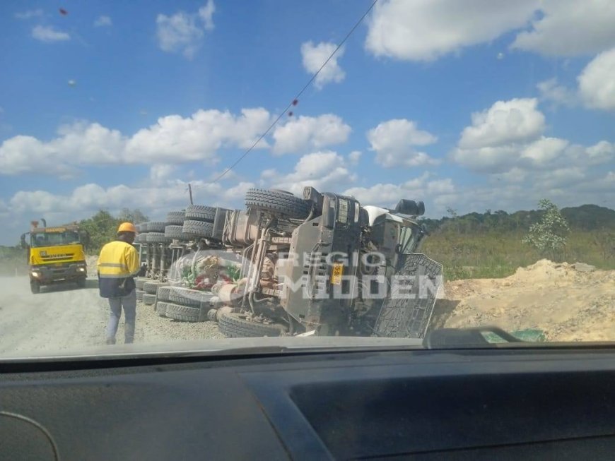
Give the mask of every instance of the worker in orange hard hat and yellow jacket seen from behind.
[[122, 307], [126, 316], [124, 342], [128, 344], [134, 340], [136, 291], [133, 277], [140, 270], [139, 254], [132, 246], [135, 234], [134, 224], [122, 222], [117, 229], [117, 240], [103, 246], [98, 256], [100, 296], [109, 299], [111, 308], [107, 323], [108, 345], [115, 344], [115, 333], [119, 318], [122, 317]]

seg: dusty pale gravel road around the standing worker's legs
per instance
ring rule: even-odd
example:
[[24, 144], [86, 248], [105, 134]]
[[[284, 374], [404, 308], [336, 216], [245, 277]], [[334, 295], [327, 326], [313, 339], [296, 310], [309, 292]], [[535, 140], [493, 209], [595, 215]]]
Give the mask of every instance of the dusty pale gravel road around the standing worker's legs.
[[[54, 352], [105, 344], [106, 299], [98, 296], [98, 282], [86, 288], [74, 284], [43, 287], [30, 293], [28, 277], [0, 277], [0, 355], [13, 352]], [[135, 342], [169, 342], [223, 337], [216, 323], [185, 323], [161, 318], [153, 306], [136, 308]], [[117, 342], [124, 340], [124, 319]]]

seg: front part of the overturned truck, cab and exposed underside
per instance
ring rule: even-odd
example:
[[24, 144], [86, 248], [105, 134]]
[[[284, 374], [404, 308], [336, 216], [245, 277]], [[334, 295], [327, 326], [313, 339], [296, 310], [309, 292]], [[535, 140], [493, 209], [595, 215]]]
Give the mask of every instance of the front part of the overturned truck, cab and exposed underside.
[[426, 333], [442, 266], [416, 253], [422, 202], [389, 210], [305, 187], [303, 198], [252, 188], [245, 205], [216, 213], [201, 236], [201, 249], [242, 256], [235, 281], [211, 287], [224, 335]]

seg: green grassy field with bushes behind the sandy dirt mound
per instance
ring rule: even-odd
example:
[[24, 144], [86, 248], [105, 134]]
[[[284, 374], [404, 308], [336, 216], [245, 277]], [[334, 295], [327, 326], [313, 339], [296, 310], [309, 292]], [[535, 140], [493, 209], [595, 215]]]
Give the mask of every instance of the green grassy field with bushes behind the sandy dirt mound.
[[539, 210], [512, 214], [487, 210], [459, 216], [449, 210], [441, 220], [423, 220], [430, 236], [421, 252], [444, 265], [445, 280], [508, 277], [541, 258], [615, 270], [614, 210], [597, 205], [554, 210], [548, 200], [541, 204]]

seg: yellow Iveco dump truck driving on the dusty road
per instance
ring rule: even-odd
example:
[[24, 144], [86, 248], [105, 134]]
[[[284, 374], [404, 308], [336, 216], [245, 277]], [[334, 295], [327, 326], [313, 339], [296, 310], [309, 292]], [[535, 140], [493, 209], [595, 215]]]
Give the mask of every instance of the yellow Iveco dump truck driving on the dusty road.
[[38, 227], [38, 222], [33, 221], [30, 232], [21, 236], [21, 245], [28, 249], [32, 292], [39, 293], [43, 285], [58, 282], [85, 287], [88, 268], [83, 247], [88, 238], [76, 224]]

